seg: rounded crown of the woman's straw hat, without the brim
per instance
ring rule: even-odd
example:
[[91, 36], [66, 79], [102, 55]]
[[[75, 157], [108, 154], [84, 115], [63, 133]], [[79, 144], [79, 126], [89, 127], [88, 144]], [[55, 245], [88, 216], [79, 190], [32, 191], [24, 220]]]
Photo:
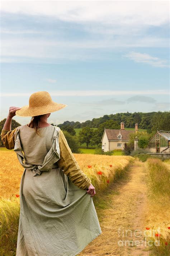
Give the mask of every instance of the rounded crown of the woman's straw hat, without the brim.
[[48, 91], [38, 91], [29, 97], [29, 107], [41, 107], [52, 103], [52, 98]]

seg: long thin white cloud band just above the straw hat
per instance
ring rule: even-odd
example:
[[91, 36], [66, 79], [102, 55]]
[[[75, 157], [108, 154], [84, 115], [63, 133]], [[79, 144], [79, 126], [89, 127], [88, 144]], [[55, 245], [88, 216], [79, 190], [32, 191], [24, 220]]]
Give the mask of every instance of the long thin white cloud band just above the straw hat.
[[[32, 92], [34, 93], [34, 91]], [[1, 93], [1, 97], [23, 97], [30, 96], [32, 93]], [[133, 95], [133, 94], [169, 94], [168, 90], [122, 90], [122, 91], [114, 91], [114, 90], [65, 90], [65, 91], [51, 91], [49, 92], [51, 96], [105, 96], [105, 95]]]

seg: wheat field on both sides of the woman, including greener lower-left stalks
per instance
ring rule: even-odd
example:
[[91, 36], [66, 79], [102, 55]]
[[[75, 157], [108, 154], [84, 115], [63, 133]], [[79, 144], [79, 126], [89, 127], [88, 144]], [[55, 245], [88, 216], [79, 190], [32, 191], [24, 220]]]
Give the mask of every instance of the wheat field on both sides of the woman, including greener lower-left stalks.
[[[119, 178], [134, 161], [131, 156], [103, 156], [94, 154], [74, 154], [81, 170], [91, 179], [98, 192]], [[14, 151], [0, 151], [0, 254], [15, 255], [20, 200], [20, 180], [24, 171]]]

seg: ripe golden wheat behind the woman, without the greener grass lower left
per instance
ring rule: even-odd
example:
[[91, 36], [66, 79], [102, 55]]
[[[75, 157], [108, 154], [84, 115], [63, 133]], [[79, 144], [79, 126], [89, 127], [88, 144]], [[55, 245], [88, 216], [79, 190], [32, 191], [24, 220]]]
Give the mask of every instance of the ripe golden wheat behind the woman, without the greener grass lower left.
[[[20, 179], [24, 168], [20, 165], [17, 155], [11, 151], [0, 152], [0, 195], [3, 198], [10, 198], [19, 194]], [[134, 161], [131, 156], [103, 156], [93, 154], [74, 154], [81, 170], [91, 179], [96, 190], [103, 191], [107, 186], [107, 180], [111, 183], [115, 175], [124, 170], [129, 162]], [[88, 168], [91, 165], [91, 168]], [[110, 167], [109, 165], [112, 165]], [[97, 174], [98, 171], [102, 175]]]

